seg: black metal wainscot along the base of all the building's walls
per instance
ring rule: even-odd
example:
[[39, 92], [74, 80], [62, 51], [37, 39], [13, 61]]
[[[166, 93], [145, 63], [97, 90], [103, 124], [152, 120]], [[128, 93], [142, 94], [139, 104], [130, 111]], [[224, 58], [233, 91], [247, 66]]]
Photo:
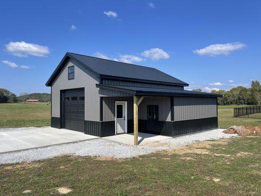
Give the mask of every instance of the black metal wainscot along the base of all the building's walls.
[[[54, 117], [52, 117], [54, 118]], [[52, 120], [51, 122], [53, 122]], [[60, 118], [55, 118], [55, 122], [60, 123]], [[139, 119], [139, 132], [156, 135], [178, 136], [218, 127], [217, 117], [195, 119], [188, 121], [153, 121]], [[52, 126], [54, 127], [54, 126]], [[55, 127], [59, 128], [59, 127]], [[133, 120], [128, 120], [128, 133], [133, 132]], [[106, 137], [115, 135], [115, 121], [96, 122], [85, 121], [85, 134]]]

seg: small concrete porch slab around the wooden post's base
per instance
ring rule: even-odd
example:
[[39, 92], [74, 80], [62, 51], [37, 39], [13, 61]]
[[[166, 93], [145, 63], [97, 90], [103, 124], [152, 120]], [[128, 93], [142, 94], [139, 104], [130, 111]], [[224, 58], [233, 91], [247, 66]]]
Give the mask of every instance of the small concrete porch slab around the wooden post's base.
[[[138, 145], [142, 146], [142, 145], [150, 144], [153, 142], [160, 142], [162, 140], [166, 140], [169, 138], [172, 138], [172, 137], [139, 132]], [[133, 133], [113, 135], [113, 136], [103, 137], [102, 139], [110, 140], [113, 142], [118, 142], [121, 144], [131, 145], [131, 146], [134, 145]]]

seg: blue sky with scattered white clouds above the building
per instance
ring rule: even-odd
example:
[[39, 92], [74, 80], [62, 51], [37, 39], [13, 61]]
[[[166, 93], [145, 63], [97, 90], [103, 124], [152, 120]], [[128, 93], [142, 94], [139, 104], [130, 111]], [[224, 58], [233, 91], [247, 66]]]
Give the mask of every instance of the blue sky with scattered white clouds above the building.
[[261, 80], [260, 10], [258, 0], [3, 1], [0, 88], [49, 93], [67, 51], [154, 67], [187, 89], [250, 87]]

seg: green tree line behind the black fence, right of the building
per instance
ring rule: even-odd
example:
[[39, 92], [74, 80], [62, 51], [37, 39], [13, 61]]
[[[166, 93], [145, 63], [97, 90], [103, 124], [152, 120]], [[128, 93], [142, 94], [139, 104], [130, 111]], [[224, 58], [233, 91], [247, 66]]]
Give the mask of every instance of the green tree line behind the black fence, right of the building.
[[[193, 89], [200, 91], [201, 89]], [[237, 86], [228, 91], [212, 90], [211, 93], [222, 94], [222, 98], [217, 98], [218, 105], [260, 105], [261, 104], [261, 84], [258, 80], [251, 82], [250, 88]]]

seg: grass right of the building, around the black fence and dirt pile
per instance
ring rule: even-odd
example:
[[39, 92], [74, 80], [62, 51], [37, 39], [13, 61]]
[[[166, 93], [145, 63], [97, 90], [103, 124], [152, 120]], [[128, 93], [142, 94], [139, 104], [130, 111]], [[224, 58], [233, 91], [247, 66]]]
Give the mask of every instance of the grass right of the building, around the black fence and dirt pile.
[[[218, 106], [218, 125], [220, 128], [228, 128], [233, 125], [247, 125], [251, 124], [257, 126], [261, 124], [261, 118], [246, 118], [237, 117], [234, 118], [234, 107], [240, 107], [238, 105], [219, 105]], [[261, 117], [261, 114], [259, 114]]]

